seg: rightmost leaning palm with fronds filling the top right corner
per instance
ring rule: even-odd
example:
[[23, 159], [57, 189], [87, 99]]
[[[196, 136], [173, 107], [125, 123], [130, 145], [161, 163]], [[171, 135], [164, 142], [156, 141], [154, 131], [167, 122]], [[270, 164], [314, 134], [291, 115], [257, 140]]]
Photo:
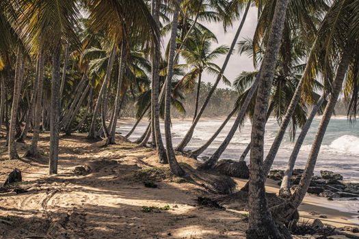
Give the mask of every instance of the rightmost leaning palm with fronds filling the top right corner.
[[[341, 93], [343, 81], [345, 79], [350, 81], [352, 76], [358, 76], [359, 74], [359, 19], [352, 17], [358, 16], [358, 10], [359, 1], [357, 0], [334, 1], [319, 28], [317, 36], [318, 42], [320, 42], [320, 44], [318, 43], [320, 46], [319, 50], [321, 53], [324, 53], [325, 57], [318, 59], [320, 61], [330, 60], [330, 65], [336, 66], [336, 75], [334, 81], [330, 84], [331, 87], [328, 89], [328, 92], [330, 92], [328, 103], [325, 106], [321, 122], [319, 123], [300, 184], [289, 200], [276, 207], [275, 210], [278, 212], [278, 217], [289, 218], [297, 207], [300, 206], [300, 203], [302, 203], [313, 176], [325, 130], [328, 127], [330, 118], [334, 113], [336, 101]], [[287, 210], [289, 208], [288, 205], [290, 205], [291, 210]]]

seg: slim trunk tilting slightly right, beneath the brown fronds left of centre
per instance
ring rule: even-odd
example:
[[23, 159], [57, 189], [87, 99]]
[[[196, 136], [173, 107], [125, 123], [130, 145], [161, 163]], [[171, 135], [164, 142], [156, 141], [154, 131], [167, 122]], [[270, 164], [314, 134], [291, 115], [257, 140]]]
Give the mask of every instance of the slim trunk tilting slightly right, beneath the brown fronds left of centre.
[[120, 69], [118, 72], [118, 81], [117, 81], [117, 92], [116, 92], [116, 100], [114, 107], [114, 115], [112, 117], [112, 123], [110, 124], [111, 128], [109, 129], [109, 137], [107, 138], [106, 144], [114, 144], [115, 143], [115, 133], [117, 126], [118, 115], [120, 114], [120, 105], [121, 105], [121, 89], [122, 89], [122, 81], [124, 78], [124, 70], [126, 68], [126, 43], [122, 42], [121, 45], [121, 59], [120, 59]]

